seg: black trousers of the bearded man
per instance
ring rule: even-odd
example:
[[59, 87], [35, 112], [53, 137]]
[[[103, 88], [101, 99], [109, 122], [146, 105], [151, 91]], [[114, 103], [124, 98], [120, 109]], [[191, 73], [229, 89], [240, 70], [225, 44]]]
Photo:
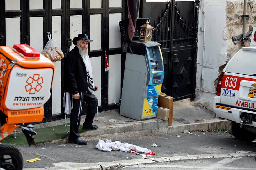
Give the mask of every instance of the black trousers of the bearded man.
[[90, 92], [79, 92], [80, 98], [73, 99], [72, 93], [70, 93], [71, 105], [73, 100], [73, 109], [70, 114], [70, 134], [69, 139], [75, 140], [79, 138], [79, 126], [81, 121], [82, 103], [85, 101], [88, 104], [86, 118], [83, 123], [83, 128], [89, 128], [93, 123], [93, 118], [97, 112], [98, 99]]

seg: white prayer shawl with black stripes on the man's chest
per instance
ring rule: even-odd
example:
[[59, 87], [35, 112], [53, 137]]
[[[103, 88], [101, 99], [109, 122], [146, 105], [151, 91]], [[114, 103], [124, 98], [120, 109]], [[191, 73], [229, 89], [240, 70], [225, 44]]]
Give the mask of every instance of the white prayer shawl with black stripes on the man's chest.
[[94, 86], [94, 82], [93, 82], [92, 65], [91, 65], [89, 55], [87, 54], [87, 55], [83, 56], [82, 58], [83, 58], [83, 62], [85, 64], [85, 68], [86, 68], [88, 90], [89, 90], [89, 92], [94, 94], [95, 93], [95, 88], [94, 88], [95, 86]]

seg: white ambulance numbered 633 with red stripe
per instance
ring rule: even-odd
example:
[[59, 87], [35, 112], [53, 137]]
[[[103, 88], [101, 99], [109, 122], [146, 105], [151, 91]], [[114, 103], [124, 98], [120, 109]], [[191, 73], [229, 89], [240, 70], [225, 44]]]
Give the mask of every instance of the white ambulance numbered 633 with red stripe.
[[244, 141], [256, 138], [256, 27], [250, 47], [243, 47], [223, 69], [213, 98], [216, 116], [232, 121], [232, 134]]

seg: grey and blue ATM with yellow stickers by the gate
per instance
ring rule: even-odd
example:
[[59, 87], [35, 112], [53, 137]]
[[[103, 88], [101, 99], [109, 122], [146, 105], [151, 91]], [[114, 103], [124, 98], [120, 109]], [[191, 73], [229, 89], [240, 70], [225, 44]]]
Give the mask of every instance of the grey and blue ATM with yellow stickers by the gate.
[[135, 120], [156, 117], [164, 78], [160, 45], [157, 42], [129, 42], [120, 115]]

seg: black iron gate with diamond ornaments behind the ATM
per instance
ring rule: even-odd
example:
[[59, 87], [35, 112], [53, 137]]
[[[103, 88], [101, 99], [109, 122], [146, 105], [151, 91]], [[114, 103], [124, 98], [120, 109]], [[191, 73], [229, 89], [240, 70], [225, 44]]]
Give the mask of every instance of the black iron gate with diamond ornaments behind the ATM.
[[[195, 97], [197, 3], [141, 2], [140, 17], [151, 19], [152, 40], [161, 44], [165, 69], [161, 92], [172, 96], [174, 101]], [[153, 10], [162, 15], [151, 13]]]

